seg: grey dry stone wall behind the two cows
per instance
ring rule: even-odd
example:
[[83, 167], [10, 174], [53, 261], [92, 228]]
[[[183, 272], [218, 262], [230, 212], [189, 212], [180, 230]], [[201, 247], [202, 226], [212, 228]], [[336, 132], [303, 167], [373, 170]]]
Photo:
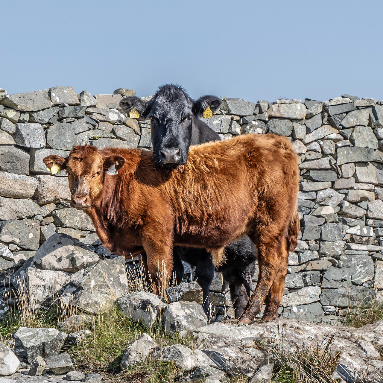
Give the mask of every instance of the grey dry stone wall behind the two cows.
[[[70, 208], [66, 174], [52, 175], [43, 158], [83, 144], [150, 149], [150, 121], [119, 110], [119, 101], [135, 93], [0, 90], [0, 272], [16, 269], [55, 233], [111, 256], [88, 216]], [[287, 136], [298, 155], [301, 234], [289, 257], [280, 316], [337, 324], [355, 301], [383, 301], [383, 101], [225, 98], [205, 121], [222, 139]], [[185, 278], [192, 275], [187, 268]], [[216, 315], [231, 306], [221, 285], [217, 274], [210, 296]]]

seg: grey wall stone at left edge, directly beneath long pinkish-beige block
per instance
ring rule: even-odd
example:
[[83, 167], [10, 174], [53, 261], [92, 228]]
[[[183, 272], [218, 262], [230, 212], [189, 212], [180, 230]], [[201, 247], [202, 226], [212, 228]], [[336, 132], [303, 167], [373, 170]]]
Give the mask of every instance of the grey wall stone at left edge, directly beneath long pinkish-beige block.
[[0, 197], [0, 220], [29, 218], [39, 212], [40, 206], [31, 200]]

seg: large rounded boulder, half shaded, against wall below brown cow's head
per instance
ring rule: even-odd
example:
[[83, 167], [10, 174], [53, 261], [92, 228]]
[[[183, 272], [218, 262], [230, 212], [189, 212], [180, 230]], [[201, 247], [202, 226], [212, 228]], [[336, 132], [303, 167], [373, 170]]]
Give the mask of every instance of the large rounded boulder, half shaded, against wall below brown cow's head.
[[100, 258], [77, 239], [66, 234], [54, 234], [39, 247], [33, 261], [42, 270], [75, 273], [96, 264]]

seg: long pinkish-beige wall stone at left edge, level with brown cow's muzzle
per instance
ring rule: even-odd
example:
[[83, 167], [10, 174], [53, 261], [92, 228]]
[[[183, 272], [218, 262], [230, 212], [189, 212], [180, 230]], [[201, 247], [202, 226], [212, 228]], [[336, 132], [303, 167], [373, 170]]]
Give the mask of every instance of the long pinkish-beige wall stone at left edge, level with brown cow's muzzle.
[[[33, 196], [36, 187], [37, 180], [33, 177], [0, 172], [1, 196], [10, 198], [30, 198]], [[2, 216], [1, 213], [0, 216]]]

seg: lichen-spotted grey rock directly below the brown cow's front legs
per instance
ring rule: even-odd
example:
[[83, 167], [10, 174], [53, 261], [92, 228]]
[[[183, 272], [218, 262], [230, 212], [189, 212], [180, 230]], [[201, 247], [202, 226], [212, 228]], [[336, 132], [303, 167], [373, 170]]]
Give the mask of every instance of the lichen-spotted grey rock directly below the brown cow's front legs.
[[157, 319], [165, 301], [158, 295], [139, 291], [129, 293], [116, 300], [117, 308], [133, 322], [151, 328]]

